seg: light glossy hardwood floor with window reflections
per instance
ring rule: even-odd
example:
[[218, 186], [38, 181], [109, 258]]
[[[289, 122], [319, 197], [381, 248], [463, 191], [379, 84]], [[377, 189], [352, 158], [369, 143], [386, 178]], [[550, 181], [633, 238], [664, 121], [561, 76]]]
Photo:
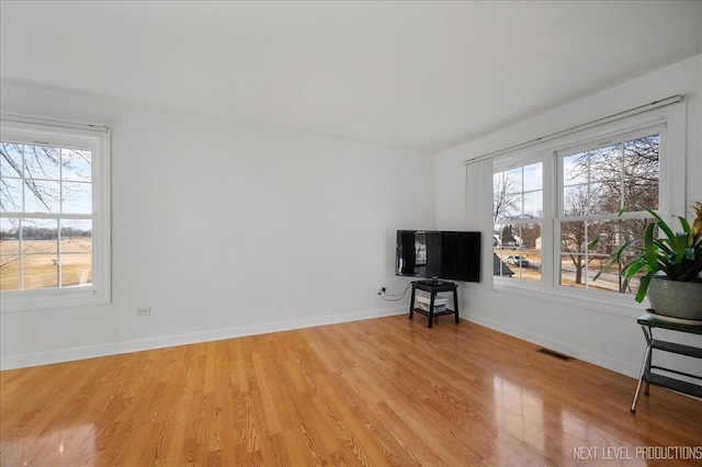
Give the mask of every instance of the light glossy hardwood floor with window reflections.
[[702, 465], [637, 458], [699, 453], [702, 401], [654, 387], [632, 414], [634, 379], [452, 321], [397, 316], [2, 372], [0, 462]]

